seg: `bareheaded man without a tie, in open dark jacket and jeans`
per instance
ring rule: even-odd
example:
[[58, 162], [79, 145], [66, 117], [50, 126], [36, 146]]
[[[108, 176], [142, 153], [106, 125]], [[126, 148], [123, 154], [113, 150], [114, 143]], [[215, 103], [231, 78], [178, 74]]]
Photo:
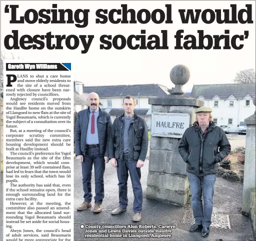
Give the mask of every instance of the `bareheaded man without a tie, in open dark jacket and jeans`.
[[132, 96], [125, 96], [122, 106], [124, 113], [115, 118], [109, 140], [110, 163], [117, 169], [119, 186], [119, 206], [111, 213], [115, 215], [126, 211], [129, 173], [134, 195], [132, 220], [139, 221], [142, 210], [140, 167], [143, 166], [146, 158], [148, 130], [145, 120], [133, 112], [135, 100]]

